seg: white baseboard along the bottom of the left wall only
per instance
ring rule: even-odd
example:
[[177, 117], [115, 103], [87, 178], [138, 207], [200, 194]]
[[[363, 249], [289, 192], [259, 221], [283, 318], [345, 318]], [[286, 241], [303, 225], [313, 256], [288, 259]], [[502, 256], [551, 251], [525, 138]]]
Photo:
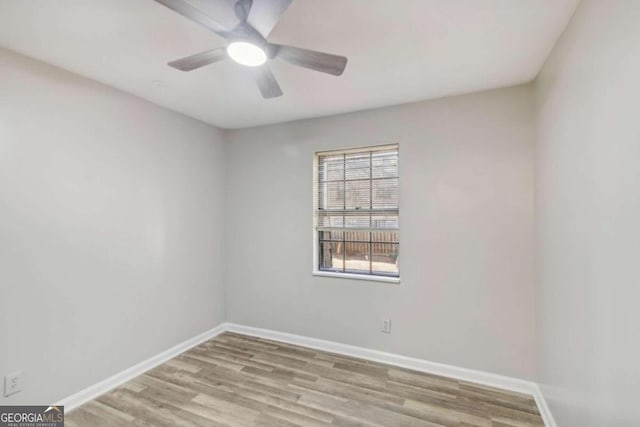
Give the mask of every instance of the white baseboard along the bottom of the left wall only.
[[62, 399], [60, 402], [56, 403], [56, 405], [64, 405], [65, 412], [72, 411], [83, 403], [95, 399], [101, 394], [106, 393], [109, 390], [112, 390], [117, 386], [132, 380], [138, 375], [144, 374], [149, 369], [155, 368], [156, 366], [166, 362], [167, 360], [172, 359], [181, 353], [184, 353], [190, 348], [195, 347], [198, 344], [201, 344], [223, 333], [226, 329], [227, 324], [222, 323], [213, 329], [196, 335], [193, 338], [189, 338], [188, 340], [183, 341], [180, 344], [175, 345], [170, 349], [165, 350], [162, 353], [157, 354], [147, 360], [144, 360], [137, 365], [127, 368], [124, 371], [117, 373], [105, 380], [102, 380], [97, 384], [87, 387], [75, 394], [72, 394], [71, 396], [68, 396]]

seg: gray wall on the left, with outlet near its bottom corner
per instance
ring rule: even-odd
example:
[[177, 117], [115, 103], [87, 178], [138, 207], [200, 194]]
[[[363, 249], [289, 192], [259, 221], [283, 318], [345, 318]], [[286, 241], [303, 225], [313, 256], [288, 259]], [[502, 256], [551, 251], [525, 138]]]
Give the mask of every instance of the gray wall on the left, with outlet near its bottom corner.
[[220, 131], [0, 49], [0, 374], [51, 403], [225, 319]]

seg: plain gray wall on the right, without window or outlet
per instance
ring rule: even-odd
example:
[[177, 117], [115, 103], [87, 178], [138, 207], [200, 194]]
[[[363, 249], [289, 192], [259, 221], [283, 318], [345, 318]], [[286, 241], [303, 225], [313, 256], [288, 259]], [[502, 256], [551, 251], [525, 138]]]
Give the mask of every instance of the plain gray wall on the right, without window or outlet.
[[583, 1], [537, 85], [539, 381], [561, 426], [638, 426], [640, 2]]

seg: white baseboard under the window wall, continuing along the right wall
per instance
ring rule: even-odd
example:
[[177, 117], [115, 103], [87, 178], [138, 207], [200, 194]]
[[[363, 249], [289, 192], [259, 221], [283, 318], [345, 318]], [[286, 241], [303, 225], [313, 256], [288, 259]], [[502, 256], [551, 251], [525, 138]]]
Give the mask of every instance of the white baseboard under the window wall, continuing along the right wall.
[[551, 412], [549, 411], [549, 407], [544, 400], [544, 396], [542, 395], [542, 392], [538, 387], [538, 384], [533, 381], [507, 377], [490, 372], [460, 368], [458, 366], [446, 365], [443, 363], [429, 362], [424, 359], [401, 356], [399, 354], [393, 353], [385, 353], [383, 351], [357, 347], [349, 344], [341, 344], [333, 341], [326, 341], [317, 338], [289, 334], [285, 332], [272, 331], [269, 329], [254, 328], [252, 326], [227, 323], [227, 330], [243, 335], [266, 338], [274, 341], [282, 341], [289, 344], [314, 348], [316, 350], [343, 354], [345, 356], [359, 357], [361, 359], [367, 359], [374, 362], [385, 363], [388, 365], [394, 365], [402, 368], [412, 369], [415, 371], [427, 372], [430, 374], [455, 378], [462, 381], [474, 382], [489, 387], [496, 387], [503, 390], [513, 391], [516, 393], [529, 394], [532, 395], [535, 399], [540, 414], [542, 415], [542, 419], [545, 422], [545, 426], [557, 427], [556, 423], [553, 420]]

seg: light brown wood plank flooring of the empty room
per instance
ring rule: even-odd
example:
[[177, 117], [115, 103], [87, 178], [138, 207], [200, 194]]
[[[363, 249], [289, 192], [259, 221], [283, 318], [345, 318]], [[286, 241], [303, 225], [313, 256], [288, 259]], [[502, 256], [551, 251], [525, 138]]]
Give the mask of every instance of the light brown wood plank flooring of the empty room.
[[224, 333], [70, 412], [77, 426], [543, 426], [531, 396]]

